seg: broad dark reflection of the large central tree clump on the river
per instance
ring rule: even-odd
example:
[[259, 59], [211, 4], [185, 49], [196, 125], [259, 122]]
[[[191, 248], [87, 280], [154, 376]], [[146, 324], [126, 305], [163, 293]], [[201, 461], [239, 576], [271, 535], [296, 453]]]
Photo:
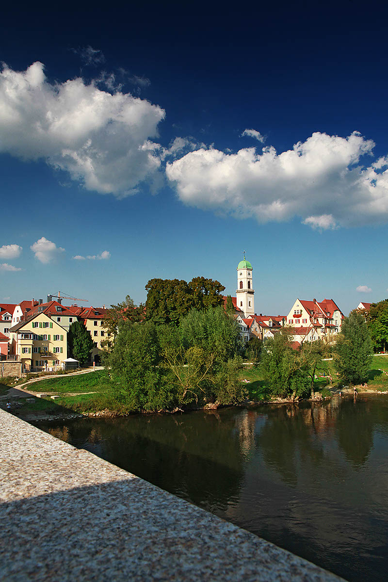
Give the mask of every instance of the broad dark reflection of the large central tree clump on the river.
[[234, 409], [73, 421], [69, 431], [71, 443], [98, 443], [104, 459], [216, 512], [239, 497], [240, 425]]

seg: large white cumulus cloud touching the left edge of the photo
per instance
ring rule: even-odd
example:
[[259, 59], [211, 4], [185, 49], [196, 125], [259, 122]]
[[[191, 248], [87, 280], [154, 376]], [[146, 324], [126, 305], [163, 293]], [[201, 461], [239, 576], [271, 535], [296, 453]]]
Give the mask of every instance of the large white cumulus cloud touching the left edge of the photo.
[[40, 62], [0, 72], [0, 152], [44, 159], [99, 193], [123, 197], [152, 180], [161, 160], [142, 145], [164, 116], [158, 105], [80, 78], [50, 83]]

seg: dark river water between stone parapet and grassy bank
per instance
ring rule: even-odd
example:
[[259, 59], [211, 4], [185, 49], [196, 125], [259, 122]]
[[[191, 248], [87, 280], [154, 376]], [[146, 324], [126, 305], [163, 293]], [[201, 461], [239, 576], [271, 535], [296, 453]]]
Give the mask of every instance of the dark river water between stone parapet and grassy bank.
[[347, 580], [388, 572], [388, 396], [38, 423]]

